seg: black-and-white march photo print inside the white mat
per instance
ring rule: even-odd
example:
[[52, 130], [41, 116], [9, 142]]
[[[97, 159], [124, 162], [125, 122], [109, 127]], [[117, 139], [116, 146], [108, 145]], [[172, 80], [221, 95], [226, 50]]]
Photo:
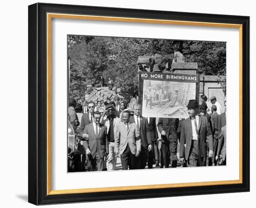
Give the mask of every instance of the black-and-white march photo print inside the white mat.
[[67, 172], [226, 165], [226, 42], [67, 35]]

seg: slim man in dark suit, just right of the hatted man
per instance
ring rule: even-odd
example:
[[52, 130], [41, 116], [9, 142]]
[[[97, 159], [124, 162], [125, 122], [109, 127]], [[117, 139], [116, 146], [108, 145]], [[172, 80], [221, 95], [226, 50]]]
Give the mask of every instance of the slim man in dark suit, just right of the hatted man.
[[218, 140], [219, 140], [219, 114], [217, 113], [217, 106], [216, 105], [212, 105], [211, 107], [211, 125], [212, 125], [212, 136], [213, 136], [213, 153], [214, 155], [209, 158], [209, 166], [212, 166], [212, 164], [214, 163], [214, 165], [216, 166], [217, 162], [216, 162], [216, 154], [217, 154], [217, 148], [218, 148]]

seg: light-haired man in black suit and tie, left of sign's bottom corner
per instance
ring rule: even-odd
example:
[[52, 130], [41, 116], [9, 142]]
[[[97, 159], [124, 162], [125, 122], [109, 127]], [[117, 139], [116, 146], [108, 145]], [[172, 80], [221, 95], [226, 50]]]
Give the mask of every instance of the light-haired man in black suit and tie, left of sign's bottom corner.
[[141, 105], [134, 105], [134, 117], [130, 118], [131, 123], [136, 123], [141, 136], [141, 154], [139, 157], [139, 169], [145, 169], [148, 162], [148, 152], [152, 151], [152, 142], [148, 126], [148, 120], [140, 115]]

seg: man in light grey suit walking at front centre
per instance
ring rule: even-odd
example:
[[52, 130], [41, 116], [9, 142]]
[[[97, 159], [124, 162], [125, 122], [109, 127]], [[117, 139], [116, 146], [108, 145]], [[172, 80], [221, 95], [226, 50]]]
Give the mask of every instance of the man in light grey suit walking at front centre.
[[141, 138], [136, 123], [130, 123], [130, 112], [123, 111], [123, 122], [117, 125], [116, 155], [120, 155], [122, 169], [138, 169], [138, 156], [141, 152]]

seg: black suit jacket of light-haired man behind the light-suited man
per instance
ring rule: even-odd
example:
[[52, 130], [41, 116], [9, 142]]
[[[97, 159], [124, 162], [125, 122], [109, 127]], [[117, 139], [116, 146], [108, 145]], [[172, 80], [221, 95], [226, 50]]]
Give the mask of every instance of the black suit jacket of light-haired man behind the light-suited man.
[[[130, 118], [131, 123], [135, 123], [135, 117]], [[141, 136], [141, 145], [144, 149], [148, 149], [148, 144], [152, 144], [151, 136], [148, 126], [148, 119], [145, 117], [140, 117], [140, 136]]]

